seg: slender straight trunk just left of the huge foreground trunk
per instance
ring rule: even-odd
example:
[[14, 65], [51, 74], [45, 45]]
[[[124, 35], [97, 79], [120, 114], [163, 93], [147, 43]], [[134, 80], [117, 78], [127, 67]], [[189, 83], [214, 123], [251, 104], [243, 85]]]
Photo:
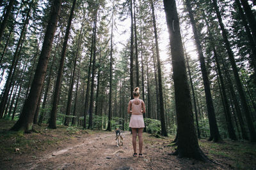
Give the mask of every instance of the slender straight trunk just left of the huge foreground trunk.
[[162, 86], [162, 75], [161, 75], [161, 61], [160, 61], [160, 55], [159, 55], [157, 28], [156, 28], [156, 17], [155, 17], [155, 10], [154, 10], [153, 0], [151, 0], [151, 10], [152, 10], [154, 35], [155, 35], [155, 43], [156, 43], [158, 87], [159, 87], [159, 107], [160, 107], [160, 118], [161, 118], [161, 134], [163, 136], [168, 136], [167, 131], [166, 131], [165, 117], [164, 117], [164, 100], [163, 100], [163, 86]]

